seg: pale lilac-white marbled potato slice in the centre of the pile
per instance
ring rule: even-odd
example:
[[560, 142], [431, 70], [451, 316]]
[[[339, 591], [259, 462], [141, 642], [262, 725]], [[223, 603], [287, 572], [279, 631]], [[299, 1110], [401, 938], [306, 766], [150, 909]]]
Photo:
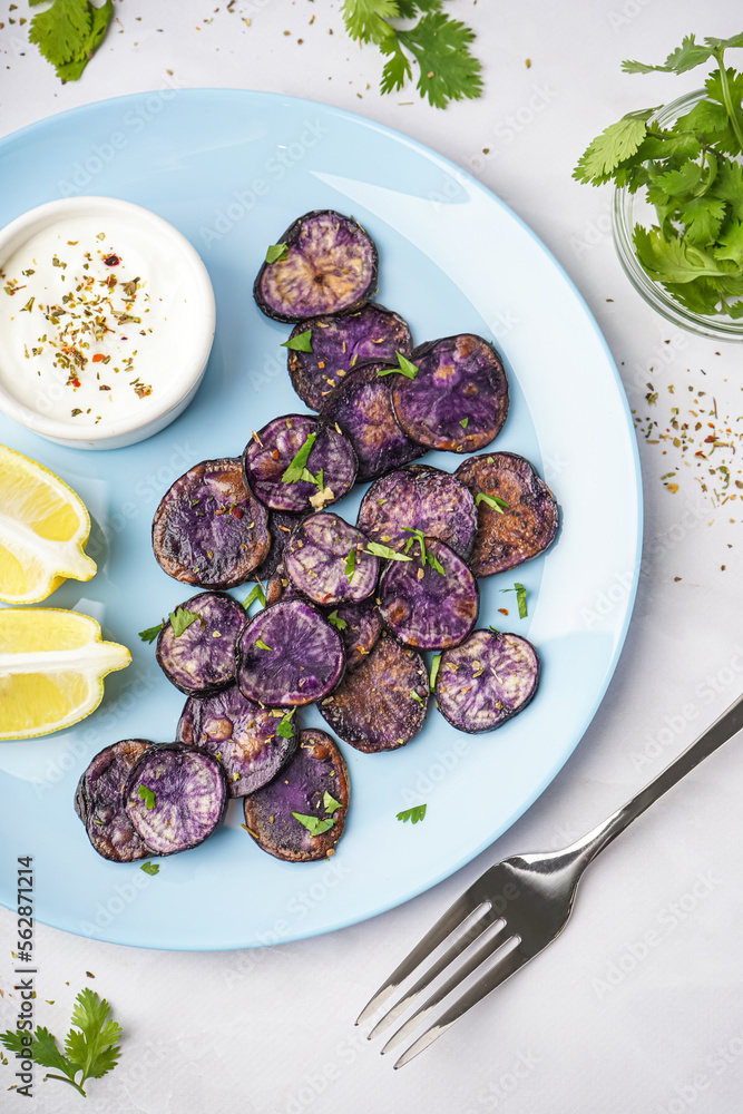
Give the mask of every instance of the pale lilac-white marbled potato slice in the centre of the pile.
[[[296, 527], [286, 543], [284, 568], [297, 592], [314, 604], [358, 603], [371, 596], [379, 557], [365, 553], [366, 538], [338, 515], [320, 511]], [[346, 573], [351, 550], [353, 570]]]

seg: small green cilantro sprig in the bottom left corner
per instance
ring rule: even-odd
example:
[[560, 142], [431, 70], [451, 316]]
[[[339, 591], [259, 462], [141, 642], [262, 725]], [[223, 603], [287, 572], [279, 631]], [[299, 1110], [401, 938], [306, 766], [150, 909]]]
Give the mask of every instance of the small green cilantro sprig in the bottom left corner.
[[[69, 1083], [84, 1098], [82, 1085], [86, 1079], [99, 1079], [111, 1072], [117, 1063], [123, 1033], [119, 1025], [109, 1017], [111, 1007], [105, 998], [99, 998], [87, 987], [75, 999], [71, 1027], [65, 1037], [65, 1053], [57, 1046], [57, 1038], [43, 1025], [38, 1025], [30, 1044], [25, 1044], [26, 1034], [8, 1029], [0, 1034], [0, 1044], [16, 1055], [27, 1056], [42, 1067], [53, 1067], [62, 1075], [47, 1073], [45, 1078]], [[78, 1073], [82, 1073], [79, 1079]]]

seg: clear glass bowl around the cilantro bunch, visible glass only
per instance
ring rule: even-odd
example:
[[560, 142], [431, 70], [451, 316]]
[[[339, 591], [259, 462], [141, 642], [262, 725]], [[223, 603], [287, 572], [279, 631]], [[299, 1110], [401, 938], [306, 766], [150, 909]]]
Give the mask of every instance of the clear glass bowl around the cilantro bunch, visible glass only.
[[[672, 100], [648, 119], [648, 125], [657, 124], [662, 128], [667, 128], [685, 116], [695, 105], [706, 96], [704, 89], [696, 89], [687, 92], [677, 100]], [[636, 194], [630, 194], [626, 187], [617, 187], [614, 194], [614, 206], [612, 209], [612, 233], [614, 246], [619, 257], [622, 268], [629, 282], [633, 284], [641, 297], [651, 305], [657, 313], [662, 314], [666, 321], [674, 325], [687, 329], [698, 336], [710, 336], [716, 341], [742, 341], [743, 340], [743, 317], [734, 319], [726, 314], [707, 316], [687, 310], [681, 305], [672, 295], [647, 274], [637, 258], [633, 229], [635, 224], [644, 224], [649, 227], [657, 224], [657, 216], [653, 206], [646, 201], [643, 189]]]

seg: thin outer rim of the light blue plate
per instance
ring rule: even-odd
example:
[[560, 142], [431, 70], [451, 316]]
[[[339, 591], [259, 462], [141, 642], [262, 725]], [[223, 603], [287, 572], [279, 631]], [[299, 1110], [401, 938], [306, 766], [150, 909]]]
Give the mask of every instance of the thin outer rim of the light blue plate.
[[[94, 100], [85, 105], [76, 105], [72, 108], [67, 108], [59, 113], [55, 113], [50, 116], [46, 116], [40, 120], [35, 120], [31, 124], [27, 124], [21, 128], [17, 128], [13, 131], [9, 133], [7, 136], [0, 138], [0, 156], [4, 155], [7, 148], [10, 147], [13, 143], [19, 141], [27, 136], [33, 135], [33, 133], [42, 128], [53, 125], [56, 120], [62, 117], [69, 118], [78, 115], [85, 115], [94, 110], [105, 108], [107, 106], [123, 105], [125, 102], [143, 101], [146, 100], [148, 97], [162, 96], [162, 94], [163, 94], [162, 89], [151, 89], [151, 90], [144, 90], [141, 92], [125, 94], [118, 97], [107, 97], [101, 100]], [[326, 924], [320, 928], [316, 926], [315, 927], [307, 926], [306, 928], [302, 928], [302, 926], [296, 926], [292, 930], [292, 932], [289, 934], [286, 937], [283, 937], [281, 940], [275, 940], [275, 941], [256, 940], [254, 942], [246, 944], [244, 940], [242, 941], [234, 940], [232, 942], [219, 942], [214, 945], [203, 944], [198, 948], [182, 946], [177, 944], [154, 945], [154, 944], [138, 942], [136, 940], [133, 940], [131, 938], [129, 939], [115, 938], [116, 934], [106, 936], [105, 938], [98, 936], [85, 936], [82, 932], [75, 931], [74, 928], [69, 928], [60, 924], [55, 924], [52, 922], [52, 920], [43, 920], [43, 919], [41, 920], [41, 924], [45, 924], [50, 928], [56, 928], [59, 931], [69, 932], [70, 935], [78, 936], [81, 939], [101, 940], [101, 942], [108, 942], [133, 948], [143, 948], [147, 950], [197, 951], [197, 952], [248, 950], [261, 947], [275, 947], [281, 944], [296, 942], [304, 939], [311, 939], [317, 936], [324, 936], [329, 932], [335, 932], [343, 928], [349, 928], [352, 925], [359, 925], [365, 921], [371, 921], [375, 917], [380, 917], [383, 913], [389, 912], [391, 909], [398, 908], [399, 906], [405, 905], [408, 901], [411, 901], [414, 898], [420, 897], [421, 893], [424, 893], [428, 890], [433, 889], [436, 886], [439, 886], [442, 881], [446, 881], [446, 879], [458, 873], [463, 867], [472, 862], [476, 858], [478, 858], [478, 856], [482, 854], [483, 851], [486, 851], [498, 839], [500, 839], [501, 836], [504, 836], [507, 831], [509, 831], [509, 829], [531, 808], [535, 801], [545, 792], [547, 786], [551, 784], [551, 782], [558, 775], [560, 770], [567, 764], [568, 760], [573, 756], [573, 754], [577, 750], [578, 745], [583, 741], [584, 735], [586, 734], [588, 727], [590, 726], [593, 720], [595, 719], [596, 713], [604, 701], [609, 684], [614, 678], [626, 642], [627, 632], [629, 629], [629, 624], [632, 622], [635, 600], [637, 596], [637, 587], [639, 583], [639, 565], [642, 558], [643, 531], [644, 531], [643, 479], [642, 479], [642, 469], [639, 462], [639, 449], [637, 444], [637, 438], [635, 437], [634, 422], [632, 419], [629, 402], [624, 388], [624, 382], [619, 374], [616, 360], [614, 359], [614, 355], [609, 349], [608, 342], [606, 341], [606, 338], [602, 332], [598, 322], [596, 321], [596, 317], [593, 311], [590, 310], [590, 306], [586, 302], [586, 299], [584, 297], [581, 292], [578, 290], [571, 276], [568, 274], [566, 268], [563, 266], [560, 261], [555, 256], [551, 250], [545, 244], [541, 237], [537, 235], [537, 233], [527, 224], [527, 222], [521, 216], [519, 216], [518, 213], [516, 213], [510, 207], [510, 205], [504, 202], [502, 198], [500, 198], [488, 186], [486, 186], [477, 177], [475, 177], [475, 175], [470, 170], [462, 168], [457, 163], [454, 163], [453, 159], [450, 159], [448, 156], [440, 154], [434, 148], [428, 146], [428, 144], [421, 143], [420, 140], [412, 138], [404, 131], [400, 131], [399, 129], [390, 127], [389, 125], [381, 124], [378, 120], [370, 119], [365, 116], [361, 116], [358, 113], [352, 113], [346, 108], [339, 108], [335, 105], [327, 105], [324, 104], [323, 101], [311, 100], [310, 98], [306, 97], [295, 97], [290, 94], [274, 92], [261, 89], [235, 88], [231, 86], [227, 87], [189, 86], [187, 88], [175, 89], [173, 90], [173, 94], [174, 97], [185, 96], [186, 99], [188, 98], [198, 99], [199, 97], [203, 97], [206, 94], [207, 96], [214, 96], [216, 98], [227, 97], [227, 98], [235, 98], [236, 100], [237, 99], [271, 100], [273, 102], [284, 104], [287, 107], [306, 106], [306, 108], [310, 109], [322, 110], [323, 113], [327, 113], [331, 114], [332, 116], [338, 116], [346, 120], [353, 127], [358, 127], [359, 125], [361, 125], [362, 127], [371, 128], [372, 130], [375, 130], [383, 136], [391, 137], [397, 143], [404, 144], [405, 146], [412, 148], [413, 150], [422, 154], [429, 160], [438, 164], [439, 166], [444, 167], [447, 172], [452, 177], [454, 177], [454, 179], [465, 179], [470, 188], [475, 187], [478, 192], [483, 194], [490, 202], [495, 202], [502, 211], [505, 211], [508, 217], [515, 221], [520, 226], [520, 228], [528, 234], [528, 236], [535, 243], [537, 248], [540, 252], [542, 252], [544, 255], [547, 257], [547, 260], [554, 265], [559, 277], [568, 286], [570, 293], [576, 299], [576, 302], [581, 309], [587, 323], [590, 325], [596, 339], [598, 340], [599, 345], [604, 351], [608, 370], [610, 370], [612, 372], [612, 377], [614, 380], [614, 388], [617, 392], [617, 400], [619, 402], [619, 407], [622, 409], [622, 412], [624, 413], [626, 429], [628, 433], [628, 448], [630, 450], [630, 459], [634, 467], [636, 516], [634, 521], [635, 553], [634, 553], [632, 583], [628, 587], [627, 596], [624, 602], [624, 615], [623, 615], [622, 626], [615, 634], [615, 644], [613, 647], [610, 659], [606, 667], [604, 681], [602, 683], [600, 688], [597, 691], [589, 709], [585, 713], [580, 726], [575, 732], [575, 741], [573, 742], [570, 750], [567, 753], [561, 752], [559, 754], [557, 761], [549, 766], [548, 772], [544, 775], [542, 779], [540, 779], [539, 783], [534, 789], [534, 791], [528, 795], [528, 798], [524, 802], [519, 803], [516, 811], [509, 815], [509, 818], [505, 821], [505, 823], [499, 828], [499, 830], [495, 834], [489, 837], [487, 840], [478, 844], [472, 850], [468, 851], [468, 853], [463, 858], [458, 859], [453, 864], [449, 863], [441, 872], [437, 873], [434, 877], [427, 878], [426, 881], [422, 882], [421, 885], [413, 885], [412, 888], [407, 891], [407, 896], [403, 898], [393, 897], [390, 901], [382, 902], [381, 905], [379, 905], [373, 912], [362, 913], [362, 915], [353, 913], [349, 917], [340, 917], [333, 922]], [[82, 196], [82, 193], [80, 194], [80, 196]], [[47, 736], [47, 737], [52, 737], [52, 736]], [[0, 900], [0, 905], [3, 902]], [[10, 908], [8, 906], [3, 907]]]

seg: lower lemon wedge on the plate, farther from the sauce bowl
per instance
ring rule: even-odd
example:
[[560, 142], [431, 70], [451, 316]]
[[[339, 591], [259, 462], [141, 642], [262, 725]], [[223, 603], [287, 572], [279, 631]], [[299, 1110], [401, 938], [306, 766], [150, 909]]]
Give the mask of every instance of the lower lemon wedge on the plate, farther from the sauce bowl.
[[104, 697], [104, 677], [131, 661], [95, 619], [57, 607], [0, 608], [0, 740], [69, 727]]

